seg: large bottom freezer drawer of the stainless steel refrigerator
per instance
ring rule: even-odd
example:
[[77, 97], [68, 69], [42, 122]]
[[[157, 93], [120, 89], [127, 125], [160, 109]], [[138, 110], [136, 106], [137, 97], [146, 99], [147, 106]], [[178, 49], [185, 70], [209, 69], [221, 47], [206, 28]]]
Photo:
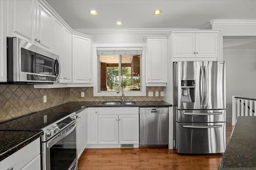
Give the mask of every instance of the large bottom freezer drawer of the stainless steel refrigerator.
[[226, 123], [176, 123], [177, 153], [223, 153], [226, 148]]

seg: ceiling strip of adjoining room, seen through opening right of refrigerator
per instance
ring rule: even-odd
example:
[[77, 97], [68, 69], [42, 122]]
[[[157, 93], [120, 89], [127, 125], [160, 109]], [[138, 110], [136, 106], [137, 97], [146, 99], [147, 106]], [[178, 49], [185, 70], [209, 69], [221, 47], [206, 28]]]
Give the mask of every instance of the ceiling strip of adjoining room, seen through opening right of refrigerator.
[[256, 49], [256, 36], [226, 36], [223, 37], [224, 49]]

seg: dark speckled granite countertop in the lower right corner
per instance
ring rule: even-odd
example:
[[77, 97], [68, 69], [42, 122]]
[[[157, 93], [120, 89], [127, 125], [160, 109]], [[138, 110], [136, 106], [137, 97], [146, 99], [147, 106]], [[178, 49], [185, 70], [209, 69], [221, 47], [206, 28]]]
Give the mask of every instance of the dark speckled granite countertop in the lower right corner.
[[238, 117], [219, 169], [256, 169], [256, 116]]

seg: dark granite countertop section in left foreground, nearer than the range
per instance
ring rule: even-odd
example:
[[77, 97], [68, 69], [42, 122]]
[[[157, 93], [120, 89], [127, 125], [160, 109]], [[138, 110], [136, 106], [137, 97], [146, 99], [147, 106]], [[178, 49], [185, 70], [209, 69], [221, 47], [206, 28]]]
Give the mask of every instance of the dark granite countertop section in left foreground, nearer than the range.
[[44, 134], [43, 131], [0, 131], [0, 161]]

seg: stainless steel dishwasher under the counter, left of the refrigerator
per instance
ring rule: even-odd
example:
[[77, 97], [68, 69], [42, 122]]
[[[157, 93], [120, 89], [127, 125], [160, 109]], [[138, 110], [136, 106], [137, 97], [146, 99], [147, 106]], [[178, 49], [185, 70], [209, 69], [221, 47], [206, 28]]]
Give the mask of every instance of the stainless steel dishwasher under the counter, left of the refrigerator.
[[168, 145], [168, 107], [140, 108], [140, 146]]

